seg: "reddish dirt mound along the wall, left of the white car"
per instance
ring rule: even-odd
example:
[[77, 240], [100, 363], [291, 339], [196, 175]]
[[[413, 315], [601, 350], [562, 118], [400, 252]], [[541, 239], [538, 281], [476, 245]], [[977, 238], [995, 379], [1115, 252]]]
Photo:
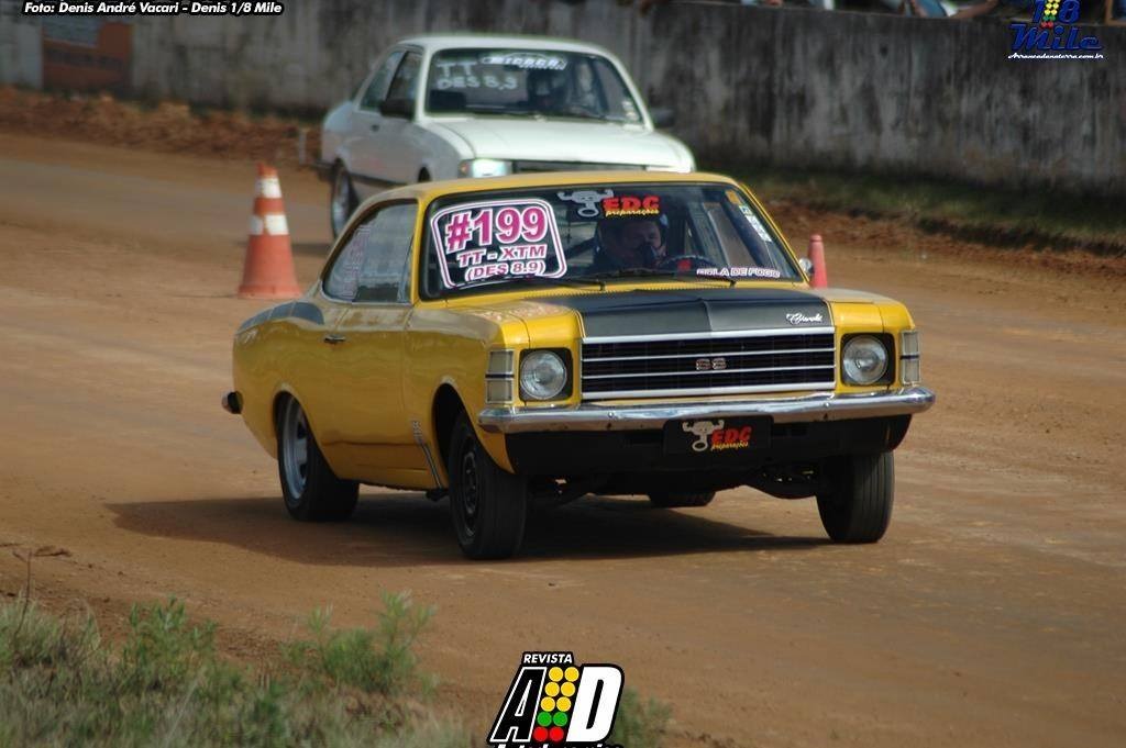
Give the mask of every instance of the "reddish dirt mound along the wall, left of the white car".
[[195, 110], [186, 103], [143, 105], [108, 93], [62, 97], [0, 88], [0, 128], [68, 139], [128, 145], [166, 153], [190, 153], [279, 165], [300, 163], [301, 132], [306, 160], [320, 151], [320, 128], [275, 116]]

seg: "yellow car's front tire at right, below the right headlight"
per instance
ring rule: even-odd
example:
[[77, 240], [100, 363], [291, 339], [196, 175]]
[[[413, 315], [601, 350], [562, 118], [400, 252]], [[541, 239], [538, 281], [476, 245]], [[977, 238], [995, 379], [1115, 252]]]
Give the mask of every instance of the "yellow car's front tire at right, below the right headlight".
[[895, 459], [891, 452], [856, 454], [826, 466], [830, 490], [817, 494], [817, 512], [838, 543], [874, 543], [892, 521]]

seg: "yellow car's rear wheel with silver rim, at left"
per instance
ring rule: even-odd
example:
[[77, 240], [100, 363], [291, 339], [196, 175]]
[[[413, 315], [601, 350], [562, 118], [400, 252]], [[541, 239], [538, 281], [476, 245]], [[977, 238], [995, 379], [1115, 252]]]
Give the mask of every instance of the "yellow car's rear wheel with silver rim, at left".
[[278, 478], [289, 516], [302, 522], [340, 522], [350, 517], [359, 497], [359, 484], [341, 480], [332, 472], [296, 399], [291, 397], [282, 404], [277, 432]]

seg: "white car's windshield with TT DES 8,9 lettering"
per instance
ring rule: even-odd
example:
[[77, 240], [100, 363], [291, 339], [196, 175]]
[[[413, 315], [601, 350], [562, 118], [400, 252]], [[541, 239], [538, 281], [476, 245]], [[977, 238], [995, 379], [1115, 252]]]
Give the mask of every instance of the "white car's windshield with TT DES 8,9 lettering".
[[432, 115], [572, 117], [641, 123], [637, 102], [595, 54], [551, 49], [445, 49], [434, 55], [426, 108]]

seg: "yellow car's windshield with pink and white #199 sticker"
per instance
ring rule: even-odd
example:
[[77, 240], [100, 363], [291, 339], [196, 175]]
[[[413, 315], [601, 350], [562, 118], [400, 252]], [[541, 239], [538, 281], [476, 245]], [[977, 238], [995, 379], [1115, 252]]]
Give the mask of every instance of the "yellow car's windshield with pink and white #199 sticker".
[[473, 192], [427, 217], [423, 295], [623, 278], [798, 280], [769, 224], [729, 184]]

